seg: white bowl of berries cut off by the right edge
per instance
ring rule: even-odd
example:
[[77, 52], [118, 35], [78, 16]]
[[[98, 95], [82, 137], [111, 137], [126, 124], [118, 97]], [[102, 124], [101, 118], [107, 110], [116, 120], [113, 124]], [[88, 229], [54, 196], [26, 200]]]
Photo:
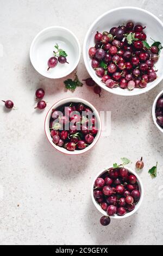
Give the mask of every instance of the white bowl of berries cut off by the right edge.
[[156, 96], [153, 102], [152, 117], [156, 127], [163, 132], [163, 90]]

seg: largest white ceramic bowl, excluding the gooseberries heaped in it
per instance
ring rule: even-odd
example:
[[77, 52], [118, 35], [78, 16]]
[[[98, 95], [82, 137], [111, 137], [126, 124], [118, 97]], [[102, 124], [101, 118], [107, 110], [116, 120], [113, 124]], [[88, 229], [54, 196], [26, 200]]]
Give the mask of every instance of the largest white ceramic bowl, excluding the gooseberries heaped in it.
[[135, 24], [140, 23], [143, 26], [147, 27], [145, 29], [145, 32], [147, 33], [147, 42], [150, 45], [152, 45], [153, 43], [151, 38], [153, 38], [155, 41], [160, 41], [163, 43], [163, 23], [158, 19], [158, 17], [156, 17], [152, 13], [149, 13], [149, 11], [140, 8], [121, 7], [104, 13], [103, 15], [98, 17], [95, 22], [93, 22], [93, 24], [86, 33], [83, 46], [83, 57], [85, 66], [93, 80], [95, 80], [95, 82], [106, 91], [117, 95], [125, 96], [139, 95], [148, 92], [148, 90], [154, 88], [163, 78], [163, 58], [160, 57], [158, 63], [156, 63], [155, 65], [156, 69], [158, 69], [158, 78], [155, 81], [148, 83], [146, 88], [135, 88], [133, 91], [130, 92], [127, 89], [124, 90], [119, 87], [113, 89], [106, 87], [105, 84], [101, 82], [101, 78], [99, 78], [95, 74], [95, 70], [93, 70], [91, 66], [91, 59], [89, 57], [88, 51], [91, 46], [95, 45], [94, 36], [97, 31], [109, 31], [110, 28], [117, 27], [118, 25], [123, 25], [123, 23], [126, 24], [128, 21], [133, 21]]

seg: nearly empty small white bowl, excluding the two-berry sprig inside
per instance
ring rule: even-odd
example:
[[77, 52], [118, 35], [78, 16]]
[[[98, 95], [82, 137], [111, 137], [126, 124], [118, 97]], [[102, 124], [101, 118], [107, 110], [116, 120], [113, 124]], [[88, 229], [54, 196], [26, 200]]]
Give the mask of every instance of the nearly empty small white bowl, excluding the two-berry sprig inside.
[[[47, 71], [48, 59], [56, 51], [54, 45], [67, 53], [67, 63], [58, 63], [54, 69]], [[80, 44], [76, 35], [64, 27], [48, 27], [34, 38], [30, 46], [30, 60], [37, 72], [48, 78], [61, 78], [69, 75], [78, 65], [80, 59]]]

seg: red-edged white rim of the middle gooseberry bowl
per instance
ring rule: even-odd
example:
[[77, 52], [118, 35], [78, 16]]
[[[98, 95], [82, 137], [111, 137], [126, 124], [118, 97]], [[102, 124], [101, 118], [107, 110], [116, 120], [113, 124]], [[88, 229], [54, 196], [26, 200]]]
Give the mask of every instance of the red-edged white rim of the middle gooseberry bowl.
[[[58, 105], [59, 103], [61, 103], [62, 101], [65, 101], [66, 100], [66, 102], [69, 102], [69, 101], [73, 101], [73, 100], [79, 100], [79, 102], [83, 102], [85, 105], [87, 105], [88, 107], [90, 107], [90, 108], [93, 108], [93, 109], [95, 109], [95, 112], [96, 112], [96, 117], [97, 117], [97, 119], [98, 119], [98, 122], [99, 122], [99, 130], [98, 130], [98, 132], [97, 132], [97, 135], [96, 135], [96, 139], [88, 146], [88, 147], [86, 147], [85, 149], [82, 149], [82, 150], [75, 150], [75, 151], [65, 151], [65, 152], [63, 152], [63, 151], [61, 151], [60, 149], [60, 147], [59, 146], [57, 146], [57, 145], [55, 145], [54, 143], [52, 143], [52, 141], [49, 141], [49, 139], [48, 139], [48, 136], [47, 136], [47, 129], [46, 129], [46, 124], [47, 124], [47, 119], [48, 119], [48, 117], [49, 117], [49, 115], [51, 114], [51, 111], [52, 111], [52, 109], [54, 108], [54, 106], [55, 105]], [[86, 103], [85, 103], [86, 102]], [[60, 105], [62, 105], [62, 103], [60, 104]], [[60, 153], [62, 153], [62, 154], [65, 154], [65, 155], [81, 155], [81, 154], [84, 154], [84, 153], [86, 153], [87, 151], [89, 151], [89, 150], [91, 150], [96, 144], [97, 144], [97, 142], [99, 141], [99, 138], [101, 137], [101, 133], [102, 133], [102, 123], [101, 123], [101, 118], [100, 118], [100, 115], [99, 115], [99, 113], [98, 113], [98, 111], [97, 111], [97, 109], [89, 102], [89, 101], [87, 101], [87, 100], [85, 100], [85, 99], [83, 99], [83, 98], [80, 98], [80, 97], [66, 97], [66, 98], [64, 98], [64, 99], [61, 99], [61, 100], [58, 100], [57, 102], [55, 102], [53, 105], [52, 105], [52, 107], [51, 108], [49, 108], [49, 110], [48, 110], [48, 112], [47, 112], [47, 114], [46, 114], [46, 118], [45, 118], [45, 123], [44, 123], [44, 130], [45, 130], [45, 134], [46, 134], [46, 138], [47, 138], [47, 140], [48, 140], [48, 142], [51, 144], [51, 146], [55, 149], [55, 150], [57, 150], [57, 151], [59, 151]]]

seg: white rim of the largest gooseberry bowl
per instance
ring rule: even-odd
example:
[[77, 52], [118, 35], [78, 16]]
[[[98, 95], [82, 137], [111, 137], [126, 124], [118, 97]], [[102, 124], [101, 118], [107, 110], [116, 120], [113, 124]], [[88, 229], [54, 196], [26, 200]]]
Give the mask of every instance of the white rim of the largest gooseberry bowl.
[[[86, 35], [85, 35], [85, 39], [84, 39], [84, 44], [83, 44], [83, 59], [84, 59], [84, 63], [85, 63], [85, 67], [86, 67], [86, 70], [87, 72], [89, 73], [89, 75], [92, 77], [92, 73], [91, 71], [89, 70], [89, 65], [87, 63], [87, 52], [86, 52], [86, 45], [87, 45], [87, 39], [89, 38], [90, 34], [91, 34], [91, 31], [92, 31], [92, 28], [96, 25], [96, 23], [101, 20], [104, 16], [110, 14], [110, 13], [114, 13], [115, 11], [117, 10], [128, 10], [128, 9], [132, 9], [132, 10], [137, 10], [137, 11], [142, 11], [143, 13], [146, 13], [148, 14], [149, 16], [152, 16], [156, 21], [158, 21], [160, 23], [160, 25], [162, 26], [162, 29], [163, 29], [163, 22], [158, 18], [156, 17], [153, 13], [151, 13], [150, 11], [147, 11], [145, 9], [142, 9], [142, 8], [139, 8], [139, 7], [118, 7], [118, 8], [114, 8], [114, 9], [111, 9], [109, 11], [106, 11], [105, 13], [103, 13], [102, 15], [100, 15], [92, 24], [91, 26], [89, 27]], [[120, 96], [135, 96], [135, 95], [140, 95], [140, 94], [143, 94], [143, 93], [147, 93], [149, 92], [149, 90], [153, 89], [154, 87], [156, 87], [163, 79], [163, 72], [162, 72], [162, 75], [160, 75], [159, 78], [157, 78], [154, 82], [153, 82], [153, 85], [149, 86], [149, 87], [146, 87], [146, 88], [142, 88], [142, 89], [139, 89], [137, 91], [132, 91], [131, 94], [128, 94], [126, 93], [124, 90], [122, 91], [123, 93], [119, 92], [116, 90], [116, 88], [114, 89], [111, 89], [111, 88], [108, 88], [106, 87], [104, 84], [101, 84], [99, 83], [99, 80], [98, 80], [98, 77], [97, 76], [93, 76], [92, 77], [93, 80], [95, 80], [95, 82], [101, 87], [103, 88], [104, 90], [106, 90], [107, 92], [109, 93], [112, 93], [112, 94], [116, 94], [116, 95], [120, 95]]]

